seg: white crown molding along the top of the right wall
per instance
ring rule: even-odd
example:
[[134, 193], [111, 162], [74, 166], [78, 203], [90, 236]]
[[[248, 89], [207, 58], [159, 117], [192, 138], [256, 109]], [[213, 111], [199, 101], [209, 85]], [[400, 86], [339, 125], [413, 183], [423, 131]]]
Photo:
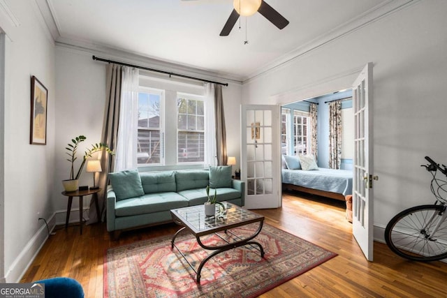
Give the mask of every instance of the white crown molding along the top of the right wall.
[[354, 18], [353, 20], [349, 20], [344, 24], [340, 24], [339, 26], [328, 31], [327, 33], [324, 33], [321, 36], [318, 36], [317, 38], [314, 38], [313, 40], [309, 41], [309, 43], [306, 43], [305, 45], [302, 45], [296, 48], [295, 50], [288, 52], [284, 56], [280, 57], [279, 59], [275, 59], [274, 61], [263, 66], [262, 68], [258, 68], [258, 70], [255, 70], [247, 77], [242, 78], [242, 84], [246, 84], [251, 80], [255, 80], [257, 77], [266, 75], [267, 73], [270, 73], [273, 70], [286, 67], [288, 66], [288, 64], [291, 64], [296, 59], [299, 59], [300, 57], [305, 56], [306, 54], [309, 54], [310, 52], [313, 52], [314, 50], [317, 50], [320, 47], [323, 47], [325, 45], [328, 45], [329, 43], [334, 42], [335, 40], [343, 38], [344, 36], [347, 36], [361, 29], [362, 27], [372, 24], [373, 22], [381, 20], [383, 17], [387, 17], [392, 13], [396, 13], [397, 11], [402, 10], [403, 8], [412, 6], [413, 4], [418, 3], [419, 1], [421, 0], [383, 1], [378, 6], [375, 6], [374, 8], [367, 10], [365, 13], [358, 15], [358, 17]]

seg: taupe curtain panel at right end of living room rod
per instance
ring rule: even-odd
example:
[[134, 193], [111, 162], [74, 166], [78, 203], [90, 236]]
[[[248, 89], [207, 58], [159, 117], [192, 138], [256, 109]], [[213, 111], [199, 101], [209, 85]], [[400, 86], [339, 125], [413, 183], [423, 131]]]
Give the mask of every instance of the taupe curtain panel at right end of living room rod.
[[214, 84], [214, 114], [216, 115], [217, 165], [226, 165], [226, 127], [223, 112], [222, 86]]

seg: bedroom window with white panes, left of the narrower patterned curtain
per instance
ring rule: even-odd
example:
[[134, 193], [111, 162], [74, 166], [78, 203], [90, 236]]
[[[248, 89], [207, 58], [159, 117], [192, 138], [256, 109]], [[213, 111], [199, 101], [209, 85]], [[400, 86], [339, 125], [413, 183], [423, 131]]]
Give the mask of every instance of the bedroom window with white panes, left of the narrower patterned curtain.
[[293, 111], [293, 154], [307, 154], [310, 152], [309, 135], [310, 129], [309, 113]]

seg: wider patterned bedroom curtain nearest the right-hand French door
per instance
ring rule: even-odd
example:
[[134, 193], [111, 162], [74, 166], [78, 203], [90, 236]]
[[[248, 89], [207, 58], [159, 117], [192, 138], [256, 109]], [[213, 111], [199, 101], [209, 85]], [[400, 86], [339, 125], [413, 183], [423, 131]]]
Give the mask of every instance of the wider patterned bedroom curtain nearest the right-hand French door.
[[339, 170], [342, 163], [342, 103], [329, 103], [329, 167]]

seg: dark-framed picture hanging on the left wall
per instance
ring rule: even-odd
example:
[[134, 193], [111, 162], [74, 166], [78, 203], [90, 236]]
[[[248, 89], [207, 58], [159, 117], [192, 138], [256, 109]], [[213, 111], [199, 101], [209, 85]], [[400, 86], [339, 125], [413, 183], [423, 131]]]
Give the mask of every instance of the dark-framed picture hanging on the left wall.
[[33, 75], [31, 77], [30, 144], [47, 144], [48, 90]]

